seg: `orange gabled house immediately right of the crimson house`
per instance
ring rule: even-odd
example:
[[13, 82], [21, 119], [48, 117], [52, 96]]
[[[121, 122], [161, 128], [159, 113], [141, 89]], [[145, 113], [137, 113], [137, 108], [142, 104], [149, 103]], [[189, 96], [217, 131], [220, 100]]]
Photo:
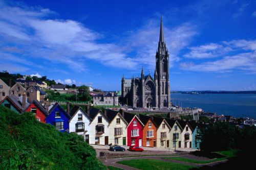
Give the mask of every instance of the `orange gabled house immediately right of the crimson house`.
[[157, 127], [151, 116], [139, 115], [140, 121], [144, 124], [143, 127], [143, 147], [156, 147]]

